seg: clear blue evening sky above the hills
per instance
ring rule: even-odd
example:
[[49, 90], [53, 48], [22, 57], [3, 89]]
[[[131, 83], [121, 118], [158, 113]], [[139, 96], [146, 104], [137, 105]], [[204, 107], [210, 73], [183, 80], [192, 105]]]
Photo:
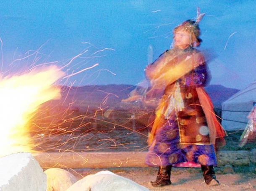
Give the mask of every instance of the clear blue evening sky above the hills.
[[[10, 70], [13, 57], [20, 58], [45, 43], [42, 61], [63, 63], [88, 50], [83, 59], [71, 64], [67, 74], [99, 63], [71, 77], [75, 85], [137, 84], [144, 80], [144, 68], [151, 57], [149, 47], [153, 60], [169, 49], [173, 28], [195, 18], [197, 6], [206, 13], [200, 23], [203, 43], [199, 49], [211, 50], [215, 58], [209, 63], [211, 84], [246, 87], [256, 80], [256, 3], [249, 0], [3, 1], [1, 72]], [[103, 48], [115, 51], [94, 55]], [[29, 64], [19, 62], [12, 73], [25, 65]]]

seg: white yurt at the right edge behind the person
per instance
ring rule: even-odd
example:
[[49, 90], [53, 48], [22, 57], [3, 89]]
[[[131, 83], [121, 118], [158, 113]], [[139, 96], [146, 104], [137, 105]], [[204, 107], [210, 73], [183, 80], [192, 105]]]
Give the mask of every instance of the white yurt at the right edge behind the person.
[[222, 126], [227, 131], [243, 130], [256, 103], [256, 81], [222, 103]]

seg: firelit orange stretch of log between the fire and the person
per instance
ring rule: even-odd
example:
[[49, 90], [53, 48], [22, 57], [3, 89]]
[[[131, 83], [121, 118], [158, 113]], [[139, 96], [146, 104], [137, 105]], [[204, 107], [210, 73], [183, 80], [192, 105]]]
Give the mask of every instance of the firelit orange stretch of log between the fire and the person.
[[42, 168], [147, 167], [146, 152], [36, 153]]

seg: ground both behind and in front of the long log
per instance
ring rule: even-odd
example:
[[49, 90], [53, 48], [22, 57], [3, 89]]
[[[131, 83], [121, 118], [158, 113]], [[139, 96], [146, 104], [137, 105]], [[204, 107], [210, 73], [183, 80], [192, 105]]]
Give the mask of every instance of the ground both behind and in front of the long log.
[[[146, 151], [148, 149], [146, 143], [147, 129], [145, 126], [139, 126], [136, 121], [134, 124], [137, 132], [131, 130], [134, 125], [133, 120], [131, 120], [131, 117], [127, 117], [127, 115], [127, 113], [120, 113], [120, 116], [116, 117], [118, 121], [113, 120], [111, 123], [108, 121], [91, 120], [91, 118], [84, 120], [84, 117], [75, 118], [76, 116], [74, 115], [70, 120], [63, 120], [64, 122], [61, 125], [57, 122], [57, 125], [52, 128], [41, 128], [48, 127], [49, 125], [44, 125], [44, 122], [42, 124], [35, 122], [34, 124], [37, 124], [37, 128], [34, 127], [33, 140], [36, 143], [36, 148], [34, 149], [43, 152]], [[44, 119], [41, 113], [40, 119]], [[238, 146], [242, 133], [243, 130], [227, 132], [228, 136], [225, 138], [226, 145], [221, 150], [235, 151], [256, 148], [255, 142], [247, 143], [243, 148]], [[235, 173], [228, 174], [217, 170], [217, 179], [221, 185], [214, 187], [206, 186], [200, 169], [174, 168], [171, 176], [172, 185], [161, 188], [154, 188], [149, 184], [149, 181], [155, 180], [157, 168], [67, 170], [79, 179], [101, 170], [109, 170], [149, 188], [150, 191], [256, 191], [255, 167], [253, 167], [253, 170], [251, 168], [250, 172], [248, 172], [246, 167], [237, 168]]]

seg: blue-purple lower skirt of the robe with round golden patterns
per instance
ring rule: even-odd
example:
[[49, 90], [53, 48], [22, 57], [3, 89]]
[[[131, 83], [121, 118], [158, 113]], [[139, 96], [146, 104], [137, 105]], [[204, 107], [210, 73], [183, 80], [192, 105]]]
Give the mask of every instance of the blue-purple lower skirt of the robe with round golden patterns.
[[184, 145], [180, 144], [178, 124], [169, 120], [156, 134], [146, 155], [149, 166], [167, 166], [182, 162], [193, 161], [202, 165], [217, 165], [213, 145]]

